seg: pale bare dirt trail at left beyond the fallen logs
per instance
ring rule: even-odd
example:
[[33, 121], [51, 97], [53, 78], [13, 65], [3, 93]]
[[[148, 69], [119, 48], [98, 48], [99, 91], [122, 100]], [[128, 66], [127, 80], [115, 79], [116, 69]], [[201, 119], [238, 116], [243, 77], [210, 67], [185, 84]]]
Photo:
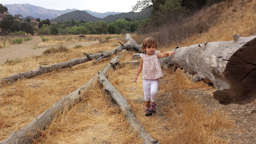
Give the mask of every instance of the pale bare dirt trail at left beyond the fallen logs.
[[[79, 42], [82, 46], [88, 46], [96, 44], [99, 41], [93, 42]], [[66, 45], [68, 48], [74, 47], [76, 44]], [[50, 46], [42, 46], [42, 38], [40, 36], [33, 36], [32, 40], [23, 42], [22, 44], [10, 45], [10, 47], [4, 47], [0, 49], [0, 65], [8, 60], [15, 60], [17, 58], [27, 58], [29, 56], [39, 56], [45, 49], [51, 48]]]

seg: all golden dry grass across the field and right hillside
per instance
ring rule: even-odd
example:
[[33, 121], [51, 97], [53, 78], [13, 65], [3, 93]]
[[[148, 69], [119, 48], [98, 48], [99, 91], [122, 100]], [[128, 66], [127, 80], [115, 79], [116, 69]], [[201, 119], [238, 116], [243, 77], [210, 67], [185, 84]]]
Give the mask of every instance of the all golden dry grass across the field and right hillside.
[[[208, 11], [223, 8], [223, 13], [216, 25], [209, 31], [191, 36], [182, 42], [172, 44], [188, 46], [205, 41], [232, 40], [234, 33], [250, 36], [255, 33], [256, 1], [227, 1], [212, 6]], [[228, 5], [228, 6], [227, 6]], [[222, 11], [221, 11], [222, 12]], [[202, 14], [202, 13], [201, 13]], [[211, 14], [211, 13], [210, 13]], [[138, 44], [143, 36], [134, 36]], [[45, 36], [46, 37], [46, 36]], [[49, 38], [53, 38], [50, 36]], [[63, 38], [64, 39], [64, 38]], [[0, 66], [0, 77], [10, 76], [38, 68], [40, 65], [51, 65], [83, 56], [83, 52], [95, 53], [114, 49], [117, 41], [124, 42], [124, 36], [117, 40], [109, 40], [102, 44], [90, 45], [68, 52], [49, 54], [27, 58], [15, 65]], [[64, 40], [65, 41], [65, 40]], [[63, 42], [64, 42], [63, 41]], [[67, 41], [67, 40], [66, 40]], [[58, 43], [54, 40], [49, 43]], [[60, 44], [60, 43], [58, 43]], [[167, 51], [168, 49], [160, 49]], [[134, 52], [122, 54], [121, 61], [131, 61]], [[73, 92], [90, 80], [97, 72], [105, 67], [111, 58], [101, 60], [92, 66], [92, 61], [33, 77], [22, 79], [13, 84], [6, 84], [0, 89], [0, 140], [8, 138], [13, 131], [29, 124], [45, 109], [50, 108], [61, 97]], [[132, 107], [145, 129], [161, 143], [228, 143], [228, 131], [234, 131], [234, 122], [220, 109], [209, 109], [198, 104], [196, 100], [182, 93], [182, 90], [198, 89], [214, 91], [214, 88], [204, 83], [192, 83], [182, 70], [172, 72], [163, 70], [159, 88], [157, 115], [146, 117], [145, 104], [138, 103], [138, 97], [143, 97], [142, 81], [133, 82], [136, 68], [131, 65], [117, 68], [109, 72], [109, 81], [115, 86]], [[172, 142], [170, 142], [172, 141]], [[34, 143], [143, 143], [136, 131], [132, 131], [123, 114], [102, 87], [95, 83], [90, 92], [84, 94], [84, 100], [69, 111], [54, 118], [42, 135]]]

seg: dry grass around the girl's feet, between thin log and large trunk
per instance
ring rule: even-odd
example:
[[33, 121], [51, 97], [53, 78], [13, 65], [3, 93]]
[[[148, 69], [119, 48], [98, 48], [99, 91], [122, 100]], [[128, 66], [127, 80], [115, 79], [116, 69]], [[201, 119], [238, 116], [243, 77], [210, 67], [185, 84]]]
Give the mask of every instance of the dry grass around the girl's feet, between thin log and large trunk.
[[145, 116], [145, 104], [138, 103], [138, 97], [143, 97], [142, 80], [139, 78], [138, 84], [133, 82], [135, 72], [136, 68], [131, 65], [118, 68], [109, 73], [109, 81], [127, 99], [140, 122], [155, 139], [161, 143], [227, 142], [218, 135], [234, 128], [232, 120], [218, 109], [209, 113], [201, 104], [179, 92], [195, 88], [211, 90], [211, 87], [204, 83], [192, 83], [182, 74], [182, 70], [175, 73], [164, 70], [158, 97], [167, 97], [170, 103], [158, 106], [159, 114]]

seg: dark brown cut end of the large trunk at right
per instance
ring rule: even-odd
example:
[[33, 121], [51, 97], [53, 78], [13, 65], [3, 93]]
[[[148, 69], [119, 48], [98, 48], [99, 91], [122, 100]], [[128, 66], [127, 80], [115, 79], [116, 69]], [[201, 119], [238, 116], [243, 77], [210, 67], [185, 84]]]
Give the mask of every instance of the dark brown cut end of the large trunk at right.
[[213, 93], [220, 104], [248, 104], [255, 100], [256, 38], [234, 52], [223, 74], [230, 88]]

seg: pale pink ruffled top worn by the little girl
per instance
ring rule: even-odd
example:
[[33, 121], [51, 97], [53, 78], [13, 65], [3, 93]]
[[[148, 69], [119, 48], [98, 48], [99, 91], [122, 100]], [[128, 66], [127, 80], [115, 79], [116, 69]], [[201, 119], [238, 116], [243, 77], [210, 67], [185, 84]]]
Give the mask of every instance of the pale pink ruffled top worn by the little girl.
[[157, 57], [159, 52], [160, 51], [155, 51], [154, 54], [149, 56], [146, 54], [140, 55], [143, 60], [142, 79], [158, 79], [164, 76], [161, 71], [160, 61]]

